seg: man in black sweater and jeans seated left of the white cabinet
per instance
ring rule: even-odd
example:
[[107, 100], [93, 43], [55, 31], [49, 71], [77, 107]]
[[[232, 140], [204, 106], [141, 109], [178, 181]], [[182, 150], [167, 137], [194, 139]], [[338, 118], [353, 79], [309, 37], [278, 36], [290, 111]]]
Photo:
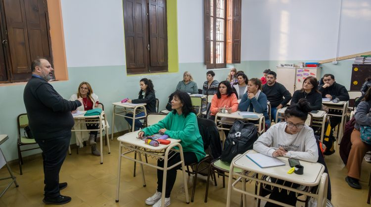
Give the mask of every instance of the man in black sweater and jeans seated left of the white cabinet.
[[267, 84], [262, 86], [262, 91], [271, 104], [271, 116], [275, 121], [277, 110], [284, 107], [292, 98], [290, 92], [282, 84], [276, 82], [276, 80], [277, 73], [275, 71], [269, 71], [267, 74]]

